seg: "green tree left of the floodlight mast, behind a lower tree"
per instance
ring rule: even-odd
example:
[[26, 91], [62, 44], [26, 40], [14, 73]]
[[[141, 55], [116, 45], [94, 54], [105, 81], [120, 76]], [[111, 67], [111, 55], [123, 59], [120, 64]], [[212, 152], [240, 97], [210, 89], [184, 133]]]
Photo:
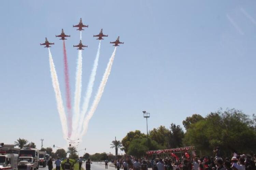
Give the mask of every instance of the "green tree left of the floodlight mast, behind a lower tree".
[[129, 144], [133, 139], [139, 139], [144, 137], [146, 137], [146, 135], [144, 133], [141, 133], [139, 130], [128, 132], [127, 135], [122, 139], [122, 150], [127, 153]]

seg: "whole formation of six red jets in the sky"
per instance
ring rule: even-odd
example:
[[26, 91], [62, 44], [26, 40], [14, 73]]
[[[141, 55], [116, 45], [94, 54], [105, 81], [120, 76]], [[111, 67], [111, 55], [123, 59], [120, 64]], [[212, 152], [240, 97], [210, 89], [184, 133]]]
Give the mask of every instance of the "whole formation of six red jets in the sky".
[[[88, 25], [85, 26], [85, 25], [83, 24], [83, 22], [82, 22], [82, 18], [80, 18], [79, 24], [76, 25], [76, 26], [73, 25], [73, 27], [78, 27], [77, 30], [82, 31], [82, 30], [84, 30], [83, 27], [88, 27]], [[62, 39], [62, 40], [65, 40], [65, 39], [66, 39], [65, 37], [70, 37], [70, 35], [66, 35], [66, 34], [64, 33], [63, 29], [61, 30], [61, 34], [60, 34], [60, 35], [55, 35], [55, 36], [56, 36], [56, 37], [61, 37], [60, 39]], [[100, 30], [100, 33], [99, 33], [98, 35], [93, 35], [93, 36], [94, 36], [94, 37], [99, 37], [99, 38], [97, 38], [97, 39], [101, 40], [101, 39], [103, 39], [102, 37], [108, 37], [109, 35], [104, 35], [104, 34], [102, 33], [102, 29], [101, 29], [101, 30]], [[124, 42], [120, 42], [120, 41], [119, 41], [119, 36], [117, 37], [117, 39], [116, 39], [114, 42], [110, 42], [110, 43], [111, 43], [111, 44], [114, 44], [113, 46], [115, 46], [115, 47], [116, 47], [116, 46], [119, 46], [119, 44], [124, 44]], [[49, 41], [47, 40], [47, 38], [45, 38], [45, 43], [43, 43], [43, 44], [40, 43], [40, 45], [45, 45], [45, 47], [49, 48], [49, 47], [51, 47], [51, 46], [49, 46], [49, 45], [54, 45], [54, 43], [49, 43]], [[84, 46], [84, 45], [82, 44], [82, 40], [80, 40], [79, 45], [76, 45], [76, 46], [73, 46], [73, 47], [78, 47], [77, 50], [84, 50], [83, 47], [88, 47], [88, 46]]]

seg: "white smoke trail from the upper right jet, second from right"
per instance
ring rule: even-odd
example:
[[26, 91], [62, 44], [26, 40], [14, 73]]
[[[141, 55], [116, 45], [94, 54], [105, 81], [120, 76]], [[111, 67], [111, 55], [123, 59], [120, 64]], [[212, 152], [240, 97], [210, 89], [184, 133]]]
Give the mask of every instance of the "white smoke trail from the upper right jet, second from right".
[[101, 44], [101, 40], [99, 42], [97, 54], [96, 54], [96, 57], [95, 57], [95, 60], [94, 60], [94, 64], [93, 64], [93, 69], [91, 70], [91, 75], [90, 75], [90, 79], [89, 79], [89, 82], [88, 82], [88, 86], [87, 86], [87, 90], [86, 90], [86, 95], [85, 95], [85, 98], [84, 98], [82, 112], [81, 112], [81, 116], [80, 116], [79, 123], [78, 123], [78, 131], [77, 131], [78, 134], [82, 130], [83, 120], [84, 120], [85, 114], [86, 114], [87, 109], [88, 109], [88, 105], [89, 105], [89, 101], [90, 101], [90, 98], [91, 98], [91, 94], [93, 92], [93, 86], [94, 86], [95, 76], [96, 76], [98, 62], [99, 62], [99, 57], [100, 57], [100, 44]]

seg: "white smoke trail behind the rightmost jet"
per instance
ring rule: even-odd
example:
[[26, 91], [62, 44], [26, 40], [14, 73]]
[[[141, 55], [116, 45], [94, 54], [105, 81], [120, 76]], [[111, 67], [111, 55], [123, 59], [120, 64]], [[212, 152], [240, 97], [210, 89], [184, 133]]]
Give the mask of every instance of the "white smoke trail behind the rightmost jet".
[[100, 82], [100, 86], [98, 88], [98, 91], [97, 91], [97, 94], [96, 94], [95, 99], [93, 101], [93, 104], [91, 105], [91, 108], [90, 108], [88, 114], [85, 117], [84, 124], [83, 124], [83, 132], [81, 133], [81, 137], [87, 132], [88, 122], [91, 119], [91, 117], [93, 116], [93, 114], [94, 114], [94, 112], [95, 112], [95, 110], [96, 110], [96, 108], [97, 108], [97, 106], [100, 102], [100, 99], [101, 99], [101, 96], [103, 94], [106, 82], [108, 81], [109, 74], [111, 72], [111, 67], [112, 67], [112, 64], [113, 64], [113, 61], [114, 61], [115, 53], [116, 53], [116, 47], [115, 47], [115, 50], [114, 50], [114, 52], [112, 53], [112, 55], [109, 59], [108, 66], [106, 67], [106, 70], [103, 74], [103, 77], [102, 77], [102, 80]]

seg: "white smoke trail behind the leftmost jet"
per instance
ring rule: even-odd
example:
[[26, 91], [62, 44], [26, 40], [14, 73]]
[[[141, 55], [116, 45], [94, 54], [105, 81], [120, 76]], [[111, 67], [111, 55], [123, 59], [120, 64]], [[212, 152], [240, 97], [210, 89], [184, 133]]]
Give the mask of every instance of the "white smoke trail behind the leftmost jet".
[[64, 137], [64, 139], [66, 139], [68, 136], [67, 118], [66, 118], [65, 109], [63, 106], [63, 101], [61, 98], [61, 92], [60, 92], [60, 88], [59, 88], [57, 72], [55, 70], [55, 66], [53, 63], [53, 57], [52, 57], [50, 49], [49, 49], [49, 64], [50, 64], [53, 88], [54, 88], [56, 102], [57, 102], [57, 109], [59, 112], [60, 122], [61, 122], [61, 126], [62, 126], [63, 137]]

